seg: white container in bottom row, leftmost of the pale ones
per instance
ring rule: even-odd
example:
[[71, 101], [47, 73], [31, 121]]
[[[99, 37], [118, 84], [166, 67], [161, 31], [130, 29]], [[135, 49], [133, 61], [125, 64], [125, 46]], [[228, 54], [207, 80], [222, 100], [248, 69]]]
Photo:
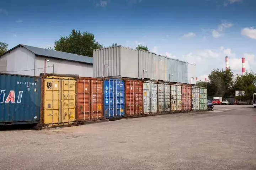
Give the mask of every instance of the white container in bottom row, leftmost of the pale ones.
[[144, 114], [155, 114], [157, 108], [157, 84], [156, 82], [143, 82], [143, 109]]

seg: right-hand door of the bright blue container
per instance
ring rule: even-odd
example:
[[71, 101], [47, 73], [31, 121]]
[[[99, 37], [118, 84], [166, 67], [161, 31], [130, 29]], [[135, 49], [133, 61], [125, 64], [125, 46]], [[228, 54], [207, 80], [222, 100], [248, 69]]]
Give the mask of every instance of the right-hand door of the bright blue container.
[[115, 88], [116, 93], [114, 98], [116, 98], [116, 105], [115, 105], [115, 113], [114, 115], [116, 117], [122, 117], [125, 115], [124, 108], [125, 108], [125, 102], [124, 102], [124, 81], [121, 80], [115, 80]]

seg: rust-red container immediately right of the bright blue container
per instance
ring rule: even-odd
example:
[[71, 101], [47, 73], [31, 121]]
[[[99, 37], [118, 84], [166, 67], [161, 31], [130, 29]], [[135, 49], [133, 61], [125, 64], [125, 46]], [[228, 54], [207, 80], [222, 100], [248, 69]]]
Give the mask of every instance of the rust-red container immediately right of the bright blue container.
[[126, 80], [126, 116], [143, 115], [143, 82]]

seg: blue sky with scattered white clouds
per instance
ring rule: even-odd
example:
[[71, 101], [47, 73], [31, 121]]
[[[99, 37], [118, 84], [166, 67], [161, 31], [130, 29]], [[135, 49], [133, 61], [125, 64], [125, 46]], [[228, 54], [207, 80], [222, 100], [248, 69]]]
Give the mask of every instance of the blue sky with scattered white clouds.
[[104, 46], [146, 45], [196, 64], [199, 80], [214, 68], [256, 72], [255, 0], [8, 0], [0, 4], [0, 41], [53, 47], [71, 29], [95, 34]]

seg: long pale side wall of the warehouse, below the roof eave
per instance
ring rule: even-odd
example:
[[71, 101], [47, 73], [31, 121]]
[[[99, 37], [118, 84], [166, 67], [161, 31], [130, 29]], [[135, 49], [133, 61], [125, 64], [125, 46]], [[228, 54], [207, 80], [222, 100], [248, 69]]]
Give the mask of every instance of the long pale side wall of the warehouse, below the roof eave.
[[46, 62], [46, 73], [53, 73], [53, 64], [54, 64], [54, 73], [57, 74], [75, 74], [82, 77], [92, 77], [93, 76], [93, 65], [86, 64], [81, 62], [69, 61], [69, 60], [60, 60], [47, 57], [36, 56], [36, 76], [39, 76], [40, 73], [44, 72], [44, 59], [49, 59], [49, 62]]

